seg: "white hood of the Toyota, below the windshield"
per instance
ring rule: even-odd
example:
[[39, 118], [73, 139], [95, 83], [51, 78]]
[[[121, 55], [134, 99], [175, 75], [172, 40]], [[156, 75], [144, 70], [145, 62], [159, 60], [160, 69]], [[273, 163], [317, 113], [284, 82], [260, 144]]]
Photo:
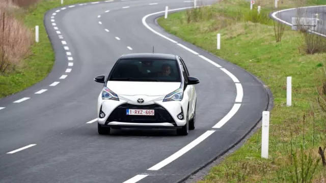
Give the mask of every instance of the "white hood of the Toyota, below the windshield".
[[180, 82], [108, 81], [106, 87], [117, 95], [165, 96], [180, 87]]

